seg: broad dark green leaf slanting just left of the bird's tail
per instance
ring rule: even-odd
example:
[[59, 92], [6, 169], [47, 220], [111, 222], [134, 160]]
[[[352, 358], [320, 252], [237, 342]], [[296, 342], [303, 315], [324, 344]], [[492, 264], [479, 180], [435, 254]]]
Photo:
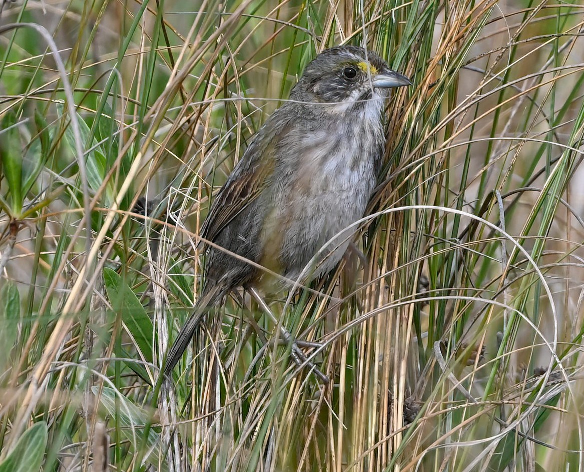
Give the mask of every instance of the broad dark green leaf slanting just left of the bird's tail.
[[152, 362], [152, 332], [154, 332], [154, 328], [152, 320], [148, 317], [140, 300], [126, 281], [114, 270], [103, 269], [103, 281], [113, 310], [121, 316], [128, 331], [134, 336], [144, 358], [148, 362]]

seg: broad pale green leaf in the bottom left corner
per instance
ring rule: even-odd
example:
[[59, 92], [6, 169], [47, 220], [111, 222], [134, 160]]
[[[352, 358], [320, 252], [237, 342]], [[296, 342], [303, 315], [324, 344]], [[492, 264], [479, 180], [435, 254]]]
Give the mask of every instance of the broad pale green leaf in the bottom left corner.
[[37, 472], [43, 463], [47, 447], [47, 424], [44, 421], [30, 426], [20, 436], [16, 446], [0, 464], [0, 472]]

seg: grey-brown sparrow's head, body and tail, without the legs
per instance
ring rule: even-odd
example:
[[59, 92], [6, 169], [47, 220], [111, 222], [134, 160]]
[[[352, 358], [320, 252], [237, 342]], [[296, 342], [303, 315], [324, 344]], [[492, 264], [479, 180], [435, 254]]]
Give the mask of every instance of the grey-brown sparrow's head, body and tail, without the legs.
[[[354, 231], [347, 227], [363, 216], [377, 182], [387, 88], [401, 85], [409, 85], [408, 79], [372, 51], [342, 46], [319, 54], [290, 100], [253, 136], [211, 204], [201, 237], [286, 279], [297, 279], [305, 268], [312, 277], [332, 270]], [[307, 267], [335, 235], [324, 258]], [[166, 374], [204, 308], [239, 286], [270, 289], [279, 283], [215, 247], [208, 250], [204, 277], [200, 299], [169, 352]]]

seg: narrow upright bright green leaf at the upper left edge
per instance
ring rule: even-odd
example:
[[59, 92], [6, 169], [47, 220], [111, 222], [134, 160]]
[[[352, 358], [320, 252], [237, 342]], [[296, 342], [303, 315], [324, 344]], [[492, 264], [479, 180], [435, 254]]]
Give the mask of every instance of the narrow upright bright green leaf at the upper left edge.
[[[6, 112], [0, 130], [0, 158], [2, 159], [2, 172], [6, 176], [11, 196], [11, 209], [13, 216], [18, 217], [22, 212], [22, 146], [20, 145], [20, 133], [16, 114], [9, 110]], [[10, 128], [10, 129], [8, 129]]]

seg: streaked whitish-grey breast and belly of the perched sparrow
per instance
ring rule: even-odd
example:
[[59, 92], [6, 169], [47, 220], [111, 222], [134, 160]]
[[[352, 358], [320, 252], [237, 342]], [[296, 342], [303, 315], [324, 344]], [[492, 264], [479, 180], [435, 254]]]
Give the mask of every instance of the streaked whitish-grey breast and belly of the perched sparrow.
[[[290, 279], [303, 270], [317, 276], [342, 258], [356, 230], [347, 227], [363, 217], [376, 185], [384, 149], [380, 114], [374, 120], [323, 120], [318, 129], [285, 145], [294, 165], [282, 165], [281, 172], [290, 175], [272, 195], [263, 263], [278, 261], [272, 268]], [[318, 266], [308, 267], [319, 251]]]

